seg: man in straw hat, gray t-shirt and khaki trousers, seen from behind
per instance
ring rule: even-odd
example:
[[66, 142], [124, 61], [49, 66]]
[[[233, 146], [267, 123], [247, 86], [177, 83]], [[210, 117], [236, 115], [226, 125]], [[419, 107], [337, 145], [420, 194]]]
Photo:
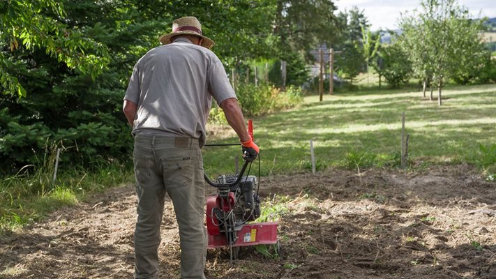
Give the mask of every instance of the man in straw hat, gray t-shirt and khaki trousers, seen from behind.
[[195, 17], [174, 20], [163, 44], [137, 61], [123, 112], [133, 126], [137, 223], [135, 278], [158, 278], [158, 246], [165, 193], [179, 225], [181, 278], [205, 278], [203, 162], [205, 123], [213, 97], [241, 141], [245, 160], [258, 146], [248, 135], [243, 114], [223, 64], [209, 50]]

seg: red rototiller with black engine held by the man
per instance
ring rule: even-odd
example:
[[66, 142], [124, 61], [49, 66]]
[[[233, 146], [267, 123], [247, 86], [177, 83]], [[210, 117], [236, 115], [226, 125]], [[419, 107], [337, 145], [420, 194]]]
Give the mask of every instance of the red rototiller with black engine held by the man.
[[[248, 133], [253, 140], [252, 121], [248, 121]], [[206, 145], [227, 146], [239, 144]], [[249, 170], [246, 176], [243, 176], [247, 167], [250, 169], [251, 163], [245, 161], [239, 174], [220, 175], [216, 181], [211, 181], [209, 176], [204, 174], [205, 181], [218, 189], [216, 196], [207, 197], [206, 199], [208, 248], [229, 247], [231, 262], [233, 259], [237, 259], [239, 248], [242, 246], [276, 244], [276, 250], [280, 253], [277, 240], [277, 223], [253, 223], [260, 217], [259, 183], [257, 176], [249, 175]]]

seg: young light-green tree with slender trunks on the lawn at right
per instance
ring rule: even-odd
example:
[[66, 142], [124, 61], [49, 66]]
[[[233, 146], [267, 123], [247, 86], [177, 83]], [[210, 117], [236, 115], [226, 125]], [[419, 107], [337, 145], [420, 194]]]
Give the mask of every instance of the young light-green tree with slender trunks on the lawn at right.
[[442, 86], [457, 72], [466, 72], [473, 67], [470, 61], [460, 63], [460, 57], [467, 59], [480, 56], [478, 32], [481, 22], [471, 20], [469, 13], [456, 0], [424, 0], [421, 11], [414, 10], [400, 20], [403, 34], [400, 41], [414, 72], [424, 80], [424, 96], [427, 80], [434, 82], [438, 89], [438, 104], [442, 105]]

